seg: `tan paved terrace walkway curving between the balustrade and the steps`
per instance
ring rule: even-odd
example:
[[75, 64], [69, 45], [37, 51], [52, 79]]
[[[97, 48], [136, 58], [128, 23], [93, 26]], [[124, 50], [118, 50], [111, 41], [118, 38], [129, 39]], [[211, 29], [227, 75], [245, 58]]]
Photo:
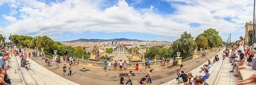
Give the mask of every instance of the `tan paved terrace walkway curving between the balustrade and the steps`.
[[[222, 48], [221, 48], [222, 49]], [[193, 70], [194, 68], [197, 68], [204, 62], [206, 62], [208, 59], [210, 59], [212, 56], [217, 54], [219, 49], [216, 49], [214, 51], [207, 52], [207, 57], [199, 57], [197, 59], [192, 59], [187, 62], [183, 62], [184, 71], [189, 72]], [[55, 74], [62, 75], [62, 67], [64, 64], [68, 64], [65, 62], [56, 63], [53, 64], [52, 67], [45, 67], [44, 60], [41, 60], [41, 57], [33, 57], [33, 60], [37, 62], [38, 64], [42, 65], [44, 68], [49, 69]], [[114, 71], [113, 69], [111, 71], [103, 71], [103, 69], [98, 68], [90, 68], [90, 71], [82, 72], [79, 71], [79, 69], [87, 68], [85, 66], [81, 65], [75, 65], [73, 66], [72, 70], [72, 77], [64, 77], [66, 79], [69, 79], [71, 81], [77, 82], [81, 85], [118, 85], [120, 83], [120, 73], [129, 73], [129, 70], [127, 71]], [[175, 71], [178, 68], [178, 65], [172, 66], [172, 65], [166, 65], [164, 68], [162, 67], [154, 67], [152, 74], [152, 82], [151, 85], [160, 85], [162, 83], [168, 82], [172, 79], [175, 79], [177, 77], [177, 74], [175, 74]], [[133, 73], [135, 73], [135, 77], [132, 77], [132, 82], [134, 85], [139, 85], [139, 81], [142, 77], [147, 75], [147, 72], [150, 69], [140, 68], [139, 71], [132, 70]], [[127, 77], [124, 78], [124, 81], [126, 82], [128, 79]]]

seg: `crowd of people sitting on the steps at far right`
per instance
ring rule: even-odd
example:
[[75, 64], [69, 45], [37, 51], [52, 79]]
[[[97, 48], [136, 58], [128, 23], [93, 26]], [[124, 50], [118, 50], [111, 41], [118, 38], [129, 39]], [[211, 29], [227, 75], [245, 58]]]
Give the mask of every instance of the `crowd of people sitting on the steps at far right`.
[[[234, 72], [235, 67], [238, 69], [253, 69], [256, 71], [256, 48], [254, 45], [250, 45], [249, 43], [244, 43], [244, 38], [239, 37], [240, 42], [236, 42], [238, 44], [233, 44], [231, 46], [231, 52], [228, 48], [223, 52], [223, 55], [230, 58], [229, 61], [232, 63], [232, 70], [230, 72]], [[252, 68], [248, 68], [252, 67]], [[238, 74], [234, 74], [234, 77], [239, 77]], [[250, 84], [256, 82], [256, 74], [252, 74], [247, 79], [237, 80], [235, 84], [243, 85]]]

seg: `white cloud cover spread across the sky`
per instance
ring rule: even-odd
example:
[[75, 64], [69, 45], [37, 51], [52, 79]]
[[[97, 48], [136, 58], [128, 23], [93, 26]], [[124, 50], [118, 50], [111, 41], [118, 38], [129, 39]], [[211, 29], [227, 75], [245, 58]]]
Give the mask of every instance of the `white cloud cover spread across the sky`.
[[[215, 28], [221, 34], [244, 31], [244, 23], [252, 20], [250, 0], [166, 0], [177, 11], [174, 14], [156, 14], [154, 6], [135, 9], [124, 0], [114, 6], [101, 9], [103, 0], [65, 0], [50, 5], [35, 0], [11, 2], [19, 6], [21, 20], [2, 15], [11, 24], [3, 27], [4, 33], [44, 35], [71, 31], [140, 32], [179, 37], [183, 31], [196, 36], [207, 28]], [[184, 2], [177, 4], [174, 2]], [[1, 5], [1, 1], [0, 1]], [[12, 14], [15, 14], [12, 13]], [[224, 17], [232, 18], [231, 22]], [[200, 23], [190, 27], [190, 23]], [[239, 35], [240, 36], [240, 35]], [[222, 36], [224, 37], [224, 36]]]

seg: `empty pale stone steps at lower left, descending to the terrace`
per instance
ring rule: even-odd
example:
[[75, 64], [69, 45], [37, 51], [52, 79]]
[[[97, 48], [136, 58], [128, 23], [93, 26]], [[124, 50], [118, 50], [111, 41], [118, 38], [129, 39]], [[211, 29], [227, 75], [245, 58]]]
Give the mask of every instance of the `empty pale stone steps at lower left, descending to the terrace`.
[[[19, 62], [19, 66], [21, 66], [21, 59], [19, 57], [15, 58]], [[49, 71], [32, 59], [27, 58], [27, 60], [30, 62], [31, 69], [27, 71], [21, 67], [21, 73], [26, 85], [79, 85]]]

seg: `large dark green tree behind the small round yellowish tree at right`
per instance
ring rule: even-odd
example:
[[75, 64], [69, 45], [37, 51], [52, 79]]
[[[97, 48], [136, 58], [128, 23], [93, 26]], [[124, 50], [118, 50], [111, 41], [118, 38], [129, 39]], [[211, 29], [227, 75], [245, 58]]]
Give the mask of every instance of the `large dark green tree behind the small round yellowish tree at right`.
[[198, 37], [196, 37], [196, 40], [198, 40], [200, 36], [206, 37], [206, 39], [208, 40], [208, 45], [211, 48], [221, 46], [222, 44], [222, 39], [219, 36], [218, 31], [216, 31], [215, 29], [209, 28], [203, 31], [202, 34], [199, 34]]

